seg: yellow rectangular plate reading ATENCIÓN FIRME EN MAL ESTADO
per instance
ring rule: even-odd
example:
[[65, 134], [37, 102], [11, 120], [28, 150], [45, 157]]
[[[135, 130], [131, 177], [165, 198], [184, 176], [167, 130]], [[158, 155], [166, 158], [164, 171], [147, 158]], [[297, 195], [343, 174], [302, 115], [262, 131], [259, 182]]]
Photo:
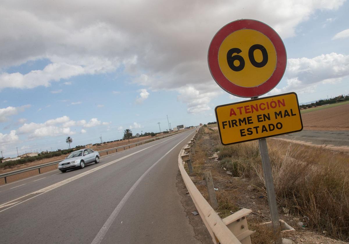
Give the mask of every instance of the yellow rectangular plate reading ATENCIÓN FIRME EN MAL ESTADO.
[[253, 99], [215, 108], [223, 145], [229, 145], [303, 129], [297, 94]]

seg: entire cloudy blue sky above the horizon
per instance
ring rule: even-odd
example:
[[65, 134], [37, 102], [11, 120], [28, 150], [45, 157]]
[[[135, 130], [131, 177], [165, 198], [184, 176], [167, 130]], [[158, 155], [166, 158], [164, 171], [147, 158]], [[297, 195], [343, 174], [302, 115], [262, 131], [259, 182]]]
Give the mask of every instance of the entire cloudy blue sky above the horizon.
[[271, 26], [287, 52], [280, 83], [300, 103], [349, 93], [349, 2], [2, 1], [0, 150], [4, 157], [215, 121], [247, 100], [212, 78], [209, 44], [238, 19]]

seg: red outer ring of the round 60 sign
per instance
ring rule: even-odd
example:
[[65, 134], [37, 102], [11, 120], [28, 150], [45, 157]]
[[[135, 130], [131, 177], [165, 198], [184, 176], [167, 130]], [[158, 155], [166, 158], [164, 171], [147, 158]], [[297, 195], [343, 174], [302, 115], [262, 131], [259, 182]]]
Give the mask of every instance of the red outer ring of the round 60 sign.
[[[241, 29], [257, 30], [272, 41], [276, 51], [276, 68], [264, 83], [254, 87], [243, 87], [230, 82], [222, 73], [218, 63], [218, 51], [223, 40], [232, 32]], [[208, 67], [216, 83], [225, 91], [238, 97], [258, 97], [272, 90], [285, 73], [287, 56], [285, 46], [279, 35], [269, 26], [257, 20], [237, 20], [220, 29], [213, 37], [208, 48]]]

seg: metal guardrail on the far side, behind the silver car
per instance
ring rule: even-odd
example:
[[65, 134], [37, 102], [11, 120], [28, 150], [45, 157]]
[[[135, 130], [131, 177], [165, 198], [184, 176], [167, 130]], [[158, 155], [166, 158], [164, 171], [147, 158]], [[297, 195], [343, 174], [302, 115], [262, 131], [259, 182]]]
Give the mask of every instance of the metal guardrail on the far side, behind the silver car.
[[[147, 140], [142, 140], [142, 141], [139, 141], [139, 142], [135, 142], [135, 143], [131, 143], [131, 144], [123, 145], [123, 146], [113, 147], [113, 148], [109, 148], [109, 149], [98, 151], [98, 152], [99, 153], [106, 152], [107, 153], [106, 155], [108, 155], [108, 152], [113, 151], [113, 150], [115, 150], [115, 152], [118, 152], [118, 149], [121, 149], [121, 148], [124, 148], [124, 150], [125, 150], [126, 147], [130, 148], [133, 145], [138, 146], [138, 144], [143, 145], [144, 143], [153, 142], [155, 140], [159, 140], [159, 139], [162, 139], [162, 138], [165, 138], [165, 137], [173, 136], [173, 135], [179, 134], [179, 133], [184, 132], [184, 131], [187, 131], [187, 130], [181, 130], [179, 132], [171, 133], [169, 135], [159, 136], [159, 137], [155, 137], [155, 138], [150, 138], [150, 139], [147, 139]], [[42, 165], [32, 166], [32, 167], [28, 167], [28, 168], [25, 168], [25, 169], [18, 169], [18, 170], [14, 170], [14, 171], [11, 171], [11, 172], [8, 172], [8, 173], [3, 173], [3, 174], [0, 174], [0, 178], [5, 178], [5, 184], [6, 184], [7, 183], [6, 177], [8, 177], [8, 176], [21, 174], [21, 173], [28, 172], [28, 171], [35, 170], [35, 169], [38, 169], [39, 170], [39, 174], [41, 174], [41, 171], [40, 171], [41, 168], [52, 166], [52, 165], [56, 165], [56, 164], [58, 164], [61, 161], [63, 161], [63, 160], [58, 160], [58, 161], [49, 162], [49, 163], [43, 163]]]

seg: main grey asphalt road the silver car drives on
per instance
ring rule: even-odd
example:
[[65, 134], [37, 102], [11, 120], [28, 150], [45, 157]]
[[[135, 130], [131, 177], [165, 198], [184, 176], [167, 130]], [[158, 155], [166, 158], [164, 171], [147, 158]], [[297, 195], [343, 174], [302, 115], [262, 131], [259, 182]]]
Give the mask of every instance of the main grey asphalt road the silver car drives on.
[[0, 186], [1, 243], [200, 243], [176, 188], [194, 132]]

